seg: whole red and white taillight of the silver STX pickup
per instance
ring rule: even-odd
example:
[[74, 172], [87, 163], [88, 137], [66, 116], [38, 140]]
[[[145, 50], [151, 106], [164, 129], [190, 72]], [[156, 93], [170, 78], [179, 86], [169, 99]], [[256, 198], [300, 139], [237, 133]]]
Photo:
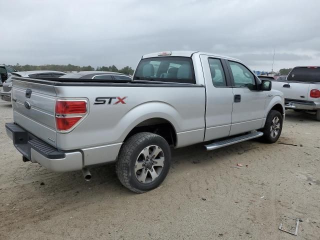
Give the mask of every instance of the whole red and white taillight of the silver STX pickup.
[[87, 113], [85, 100], [56, 100], [55, 126], [57, 131], [70, 130]]

